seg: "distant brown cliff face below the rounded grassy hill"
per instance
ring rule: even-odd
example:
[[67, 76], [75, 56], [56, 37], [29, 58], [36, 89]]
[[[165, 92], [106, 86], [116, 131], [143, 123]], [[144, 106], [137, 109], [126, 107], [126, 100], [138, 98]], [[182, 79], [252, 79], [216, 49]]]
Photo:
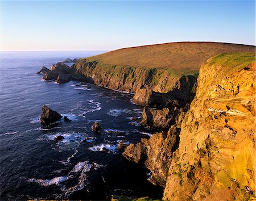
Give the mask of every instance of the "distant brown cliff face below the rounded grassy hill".
[[[150, 88], [158, 93], [167, 93], [175, 85], [179, 85], [179, 80], [183, 76], [166, 68], [110, 65], [89, 61], [86, 58], [76, 62], [75, 68], [96, 85], [131, 93], [143, 88]], [[197, 76], [197, 73], [191, 73]]]

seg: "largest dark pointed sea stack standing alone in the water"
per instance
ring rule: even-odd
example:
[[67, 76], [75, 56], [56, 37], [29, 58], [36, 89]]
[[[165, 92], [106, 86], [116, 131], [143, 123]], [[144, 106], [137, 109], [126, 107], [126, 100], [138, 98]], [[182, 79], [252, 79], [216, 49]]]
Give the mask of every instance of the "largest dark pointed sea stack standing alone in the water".
[[40, 118], [40, 121], [42, 123], [50, 124], [60, 119], [61, 119], [61, 115], [58, 112], [51, 110], [51, 108], [47, 106], [42, 107], [42, 114]]

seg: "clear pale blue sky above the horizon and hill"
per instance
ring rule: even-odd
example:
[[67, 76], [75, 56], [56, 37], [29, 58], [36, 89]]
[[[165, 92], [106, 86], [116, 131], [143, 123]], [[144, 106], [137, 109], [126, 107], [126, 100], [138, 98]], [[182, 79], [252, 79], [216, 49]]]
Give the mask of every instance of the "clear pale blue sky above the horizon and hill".
[[255, 45], [254, 1], [2, 1], [1, 15], [2, 51]]

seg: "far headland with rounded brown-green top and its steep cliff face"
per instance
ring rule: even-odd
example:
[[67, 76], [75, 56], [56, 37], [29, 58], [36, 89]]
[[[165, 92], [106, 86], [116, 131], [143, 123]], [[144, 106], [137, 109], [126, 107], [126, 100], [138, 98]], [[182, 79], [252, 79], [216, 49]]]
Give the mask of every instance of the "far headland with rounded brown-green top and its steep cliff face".
[[[135, 93], [142, 105], [174, 106], [191, 102], [202, 62], [228, 52], [254, 52], [250, 45], [227, 43], [167, 43], [124, 48], [80, 59], [72, 66], [88, 81]], [[150, 96], [150, 89], [154, 97]], [[176, 102], [175, 102], [176, 101]]]

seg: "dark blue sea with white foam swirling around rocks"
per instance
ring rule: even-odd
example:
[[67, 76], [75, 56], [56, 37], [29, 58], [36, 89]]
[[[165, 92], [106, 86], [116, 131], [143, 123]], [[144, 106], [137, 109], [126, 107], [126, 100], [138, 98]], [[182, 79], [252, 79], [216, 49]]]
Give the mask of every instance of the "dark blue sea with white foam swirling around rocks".
[[[42, 65], [100, 53], [1, 52], [1, 200], [162, 197], [147, 170], [127, 162], [118, 149], [151, 134], [131, 120], [143, 109], [131, 94], [75, 81], [59, 85], [36, 74]], [[72, 121], [44, 127], [44, 104]], [[91, 129], [96, 120], [100, 134]], [[65, 139], [56, 143], [58, 135]]]

